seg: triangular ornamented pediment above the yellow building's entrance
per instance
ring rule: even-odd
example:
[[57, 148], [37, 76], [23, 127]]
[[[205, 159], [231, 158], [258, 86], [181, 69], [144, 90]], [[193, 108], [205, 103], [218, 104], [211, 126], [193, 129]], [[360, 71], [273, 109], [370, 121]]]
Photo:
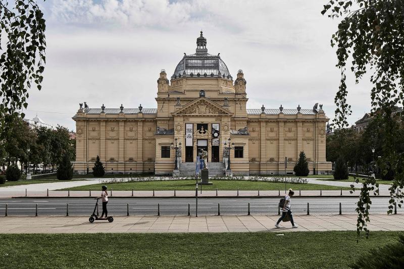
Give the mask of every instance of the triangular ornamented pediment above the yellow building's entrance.
[[174, 112], [173, 115], [220, 116], [232, 115], [232, 113], [223, 109], [222, 106], [209, 100], [206, 97], [199, 97], [181, 107], [181, 109]]

